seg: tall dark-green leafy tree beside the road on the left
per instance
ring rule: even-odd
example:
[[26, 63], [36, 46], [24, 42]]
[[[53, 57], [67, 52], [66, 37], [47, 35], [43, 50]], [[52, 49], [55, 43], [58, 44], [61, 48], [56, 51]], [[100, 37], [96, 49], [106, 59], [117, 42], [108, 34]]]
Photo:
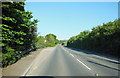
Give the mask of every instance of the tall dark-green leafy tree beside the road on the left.
[[25, 11], [24, 5], [24, 2], [2, 2], [3, 67], [17, 61], [20, 52], [36, 47], [38, 20], [31, 21], [32, 12]]

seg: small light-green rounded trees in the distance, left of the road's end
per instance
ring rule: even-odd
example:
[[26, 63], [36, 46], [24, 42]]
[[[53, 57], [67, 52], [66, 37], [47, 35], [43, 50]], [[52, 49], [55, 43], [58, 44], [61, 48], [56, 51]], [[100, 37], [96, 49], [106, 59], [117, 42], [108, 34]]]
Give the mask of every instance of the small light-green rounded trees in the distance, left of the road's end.
[[54, 34], [47, 34], [44, 36], [37, 37], [37, 46], [40, 48], [43, 47], [53, 47], [59, 43], [59, 40], [56, 38]]

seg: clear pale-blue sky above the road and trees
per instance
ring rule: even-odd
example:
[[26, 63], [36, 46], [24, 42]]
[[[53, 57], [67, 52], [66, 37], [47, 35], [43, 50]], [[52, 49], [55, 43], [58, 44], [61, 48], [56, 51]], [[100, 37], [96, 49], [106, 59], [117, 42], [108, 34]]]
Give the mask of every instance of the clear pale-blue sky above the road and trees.
[[60, 40], [118, 18], [117, 2], [26, 2], [40, 35], [53, 33]]

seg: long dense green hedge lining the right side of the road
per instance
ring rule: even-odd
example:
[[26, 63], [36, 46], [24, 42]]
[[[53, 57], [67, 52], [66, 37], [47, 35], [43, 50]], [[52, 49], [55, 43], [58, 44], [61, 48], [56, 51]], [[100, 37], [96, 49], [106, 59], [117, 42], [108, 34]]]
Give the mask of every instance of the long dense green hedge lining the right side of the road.
[[67, 46], [118, 56], [120, 51], [120, 19], [71, 37]]

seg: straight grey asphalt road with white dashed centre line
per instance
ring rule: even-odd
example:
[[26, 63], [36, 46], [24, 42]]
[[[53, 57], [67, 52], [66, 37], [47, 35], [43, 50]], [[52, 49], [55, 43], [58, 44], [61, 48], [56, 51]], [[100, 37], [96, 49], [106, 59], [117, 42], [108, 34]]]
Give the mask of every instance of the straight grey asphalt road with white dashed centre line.
[[24, 76], [118, 76], [118, 62], [57, 45], [41, 61], [39, 55]]

